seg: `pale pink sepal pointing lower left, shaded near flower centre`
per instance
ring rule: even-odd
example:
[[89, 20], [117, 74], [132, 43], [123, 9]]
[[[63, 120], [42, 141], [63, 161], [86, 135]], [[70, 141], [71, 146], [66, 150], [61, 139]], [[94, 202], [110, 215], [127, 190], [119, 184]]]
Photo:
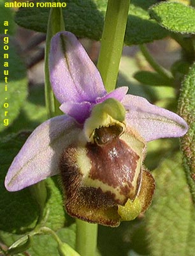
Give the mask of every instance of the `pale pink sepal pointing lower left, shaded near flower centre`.
[[38, 126], [8, 170], [5, 186], [17, 191], [59, 173], [62, 151], [78, 139], [80, 128], [73, 118], [56, 116]]

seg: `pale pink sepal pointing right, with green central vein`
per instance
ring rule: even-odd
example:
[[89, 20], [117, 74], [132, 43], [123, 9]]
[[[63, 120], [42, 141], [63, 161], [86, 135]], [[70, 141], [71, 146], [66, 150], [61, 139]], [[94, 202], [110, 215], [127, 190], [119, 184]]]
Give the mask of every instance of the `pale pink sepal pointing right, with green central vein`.
[[122, 104], [127, 109], [127, 125], [133, 127], [146, 141], [180, 137], [187, 132], [187, 124], [175, 113], [150, 104], [146, 99], [126, 95]]

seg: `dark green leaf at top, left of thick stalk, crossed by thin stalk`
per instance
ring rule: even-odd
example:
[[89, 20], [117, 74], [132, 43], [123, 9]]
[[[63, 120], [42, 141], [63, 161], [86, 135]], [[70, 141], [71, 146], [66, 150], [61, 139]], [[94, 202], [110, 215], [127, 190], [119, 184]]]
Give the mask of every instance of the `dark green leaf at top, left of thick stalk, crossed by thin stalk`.
[[[36, 2], [48, 2], [47, 0], [33, 1]], [[104, 3], [105, 1], [101, 1]], [[64, 23], [66, 30], [75, 33], [80, 37], [93, 38], [99, 40], [103, 29], [103, 12], [100, 12], [96, 7], [96, 1], [86, 0], [68, 0], [66, 1], [66, 8], [63, 8]], [[47, 32], [47, 22], [50, 8], [20, 8], [15, 17], [18, 25], [24, 26], [24, 28], [33, 29], [35, 31]]]

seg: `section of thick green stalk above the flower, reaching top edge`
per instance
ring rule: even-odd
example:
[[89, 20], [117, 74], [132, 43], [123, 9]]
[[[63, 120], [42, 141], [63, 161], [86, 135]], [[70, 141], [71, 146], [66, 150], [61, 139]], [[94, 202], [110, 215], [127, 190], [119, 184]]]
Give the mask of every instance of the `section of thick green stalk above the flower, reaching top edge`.
[[115, 89], [130, 0], [108, 0], [98, 69], [108, 92]]

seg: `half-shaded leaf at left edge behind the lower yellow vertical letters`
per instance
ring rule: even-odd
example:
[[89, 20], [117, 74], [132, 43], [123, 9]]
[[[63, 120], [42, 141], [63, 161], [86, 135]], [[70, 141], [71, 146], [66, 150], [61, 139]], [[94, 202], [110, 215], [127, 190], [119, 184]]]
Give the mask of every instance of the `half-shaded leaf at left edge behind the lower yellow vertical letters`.
[[[0, 40], [4, 45], [3, 39]], [[8, 51], [0, 49], [0, 66], [4, 71], [1, 71], [0, 78], [0, 95], [1, 95], [1, 124], [0, 131], [7, 128], [15, 118], [17, 118], [22, 104], [24, 104], [27, 96], [27, 77], [24, 63], [20, 60], [15, 47], [11, 44], [9, 36]], [[8, 59], [3, 58], [4, 54], [8, 53]], [[4, 67], [8, 63], [8, 67]], [[7, 76], [8, 72], [8, 76]], [[5, 79], [7, 77], [7, 80]], [[7, 83], [6, 83], [7, 81]], [[6, 89], [7, 86], [7, 89]], [[7, 112], [6, 112], [7, 111]]]

